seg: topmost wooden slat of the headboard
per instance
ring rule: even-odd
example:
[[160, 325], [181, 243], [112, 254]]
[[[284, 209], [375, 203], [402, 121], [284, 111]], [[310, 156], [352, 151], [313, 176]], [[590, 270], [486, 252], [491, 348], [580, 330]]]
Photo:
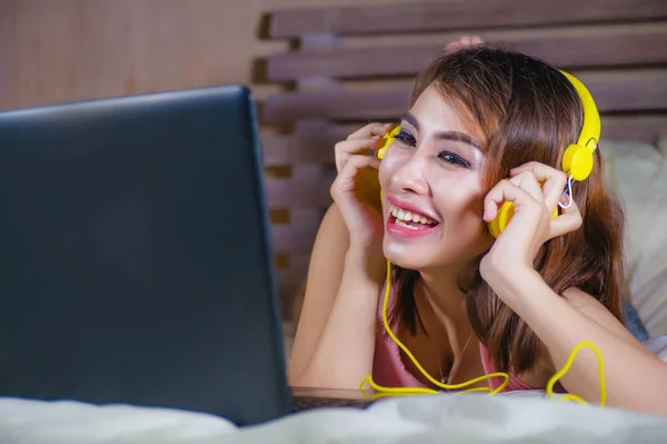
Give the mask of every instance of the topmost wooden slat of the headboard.
[[271, 12], [269, 36], [374, 34], [628, 22], [667, 17], [665, 0], [451, 0]]

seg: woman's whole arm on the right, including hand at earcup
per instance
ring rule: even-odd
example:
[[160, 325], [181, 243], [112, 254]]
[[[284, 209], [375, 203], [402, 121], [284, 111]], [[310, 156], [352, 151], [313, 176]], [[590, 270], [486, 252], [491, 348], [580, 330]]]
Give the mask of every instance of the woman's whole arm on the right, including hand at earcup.
[[[554, 371], [565, 366], [577, 345], [593, 343], [603, 355], [608, 405], [667, 414], [667, 364], [624, 332], [623, 325], [591, 296], [569, 289], [561, 297], [534, 268], [535, 257], [546, 240], [579, 229], [583, 224], [574, 199], [551, 219], [566, 182], [563, 171], [528, 162], [512, 169], [509, 179], [489, 191], [485, 221], [496, 217], [504, 201], [514, 203], [515, 213], [482, 258], [479, 272], [545, 344]], [[583, 348], [561, 383], [573, 395], [598, 403], [596, 354]]]

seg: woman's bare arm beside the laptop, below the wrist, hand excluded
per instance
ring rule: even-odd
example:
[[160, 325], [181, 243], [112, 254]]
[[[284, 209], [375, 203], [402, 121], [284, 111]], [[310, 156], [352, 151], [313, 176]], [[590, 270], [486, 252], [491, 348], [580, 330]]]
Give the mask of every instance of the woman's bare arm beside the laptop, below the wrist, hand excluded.
[[356, 388], [371, 372], [381, 264], [377, 250], [350, 248], [347, 227], [332, 205], [312, 250], [290, 385]]

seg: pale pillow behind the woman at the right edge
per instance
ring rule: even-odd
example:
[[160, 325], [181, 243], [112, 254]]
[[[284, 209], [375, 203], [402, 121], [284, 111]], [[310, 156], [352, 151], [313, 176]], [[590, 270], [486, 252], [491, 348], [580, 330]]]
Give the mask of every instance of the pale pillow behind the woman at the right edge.
[[651, 337], [667, 335], [667, 139], [603, 141], [609, 189], [626, 213], [630, 299]]

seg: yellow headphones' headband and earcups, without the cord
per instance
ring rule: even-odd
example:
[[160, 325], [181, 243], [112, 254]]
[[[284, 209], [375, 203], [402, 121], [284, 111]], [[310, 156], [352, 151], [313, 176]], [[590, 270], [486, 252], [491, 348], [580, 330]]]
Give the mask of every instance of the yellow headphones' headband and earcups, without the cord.
[[[597, 110], [593, 96], [588, 89], [576, 77], [565, 71], [560, 71], [575, 87], [579, 95], [583, 109], [583, 124], [577, 142], [570, 145], [563, 155], [561, 169], [568, 175], [568, 180], [585, 180], [593, 170], [593, 155], [597, 149], [597, 144], [600, 138], [600, 115]], [[387, 148], [400, 132], [400, 127], [394, 128], [387, 132], [380, 142], [380, 148], [377, 151], [378, 158], [384, 158]], [[570, 196], [571, 198], [571, 196]], [[506, 201], [502, 204], [494, 220], [488, 224], [489, 233], [497, 238], [500, 233], [507, 227], [509, 220], [514, 216], [514, 203]], [[554, 209], [552, 218], [558, 217], [558, 207]]]

